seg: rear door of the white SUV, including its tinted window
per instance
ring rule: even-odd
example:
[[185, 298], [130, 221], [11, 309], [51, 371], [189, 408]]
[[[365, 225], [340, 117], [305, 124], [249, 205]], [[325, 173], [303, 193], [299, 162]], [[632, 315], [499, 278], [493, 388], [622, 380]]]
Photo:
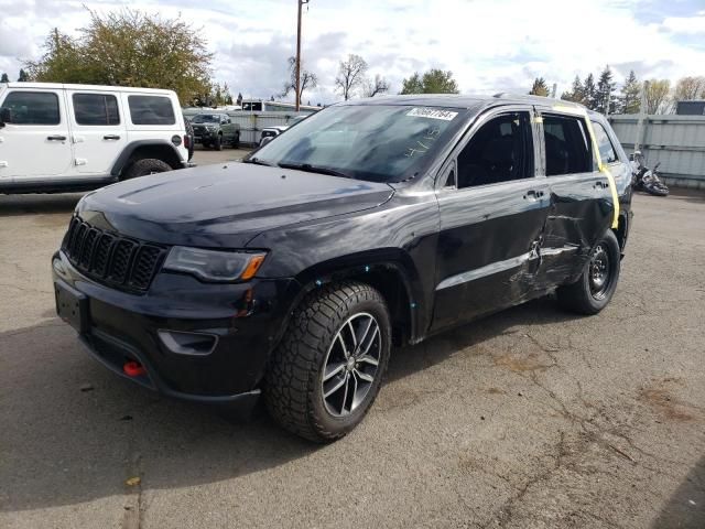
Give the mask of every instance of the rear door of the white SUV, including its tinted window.
[[105, 176], [128, 142], [120, 100], [109, 91], [67, 91], [76, 172]]

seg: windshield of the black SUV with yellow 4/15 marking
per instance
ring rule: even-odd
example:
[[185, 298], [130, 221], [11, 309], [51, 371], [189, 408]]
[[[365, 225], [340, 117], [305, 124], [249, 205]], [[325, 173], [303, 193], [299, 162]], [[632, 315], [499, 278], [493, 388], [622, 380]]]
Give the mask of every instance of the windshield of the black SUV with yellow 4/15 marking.
[[329, 107], [296, 123], [250, 160], [357, 180], [401, 182], [433, 161], [466, 112], [392, 105]]

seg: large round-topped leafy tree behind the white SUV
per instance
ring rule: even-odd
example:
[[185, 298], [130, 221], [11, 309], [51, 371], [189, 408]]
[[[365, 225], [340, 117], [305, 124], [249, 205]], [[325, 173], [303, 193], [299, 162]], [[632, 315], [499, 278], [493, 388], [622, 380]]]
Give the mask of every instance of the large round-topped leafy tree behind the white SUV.
[[130, 9], [105, 17], [88, 12], [90, 22], [79, 37], [50, 33], [44, 55], [25, 63], [33, 78], [167, 88], [187, 104], [209, 93], [213, 54], [188, 23]]

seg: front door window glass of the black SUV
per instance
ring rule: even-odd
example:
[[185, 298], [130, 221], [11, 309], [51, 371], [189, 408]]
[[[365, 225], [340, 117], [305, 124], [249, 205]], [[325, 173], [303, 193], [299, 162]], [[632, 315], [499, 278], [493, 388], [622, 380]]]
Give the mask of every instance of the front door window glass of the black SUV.
[[458, 155], [458, 188], [533, 175], [529, 112], [511, 112], [490, 119]]

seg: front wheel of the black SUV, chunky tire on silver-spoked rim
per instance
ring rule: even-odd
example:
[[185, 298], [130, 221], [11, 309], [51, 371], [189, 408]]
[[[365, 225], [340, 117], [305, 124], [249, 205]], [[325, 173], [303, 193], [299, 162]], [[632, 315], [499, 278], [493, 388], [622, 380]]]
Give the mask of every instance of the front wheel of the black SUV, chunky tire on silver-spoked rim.
[[316, 290], [292, 315], [267, 375], [270, 414], [290, 432], [330, 442], [372, 406], [391, 346], [382, 295], [364, 283]]

